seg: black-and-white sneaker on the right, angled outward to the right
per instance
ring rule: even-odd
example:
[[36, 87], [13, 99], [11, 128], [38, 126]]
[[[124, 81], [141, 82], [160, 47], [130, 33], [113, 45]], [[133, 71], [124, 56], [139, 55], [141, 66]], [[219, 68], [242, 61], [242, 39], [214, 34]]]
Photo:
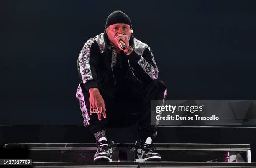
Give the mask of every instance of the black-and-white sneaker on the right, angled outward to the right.
[[135, 142], [135, 153], [137, 153], [138, 161], [161, 161], [161, 156], [155, 150], [150, 137], [144, 143], [139, 140]]

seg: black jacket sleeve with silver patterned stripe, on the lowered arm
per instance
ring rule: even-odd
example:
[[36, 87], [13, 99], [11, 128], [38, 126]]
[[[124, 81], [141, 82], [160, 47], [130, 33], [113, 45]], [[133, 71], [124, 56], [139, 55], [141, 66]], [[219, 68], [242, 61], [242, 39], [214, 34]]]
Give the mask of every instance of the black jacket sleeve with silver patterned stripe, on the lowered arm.
[[98, 88], [96, 71], [99, 65], [99, 55], [99, 46], [94, 38], [90, 38], [84, 44], [79, 54], [77, 69], [79, 77], [87, 90], [93, 87]]

